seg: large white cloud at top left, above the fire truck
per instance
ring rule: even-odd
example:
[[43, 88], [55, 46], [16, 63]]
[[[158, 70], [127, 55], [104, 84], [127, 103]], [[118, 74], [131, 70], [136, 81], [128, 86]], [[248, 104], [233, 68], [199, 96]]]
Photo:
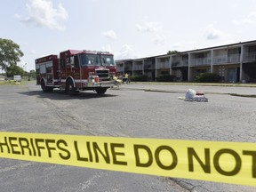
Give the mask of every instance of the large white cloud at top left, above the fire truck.
[[36, 27], [65, 29], [62, 22], [68, 20], [68, 12], [62, 4], [58, 4], [58, 7], [54, 8], [52, 0], [30, 0], [26, 6], [28, 16], [15, 15], [21, 22]]

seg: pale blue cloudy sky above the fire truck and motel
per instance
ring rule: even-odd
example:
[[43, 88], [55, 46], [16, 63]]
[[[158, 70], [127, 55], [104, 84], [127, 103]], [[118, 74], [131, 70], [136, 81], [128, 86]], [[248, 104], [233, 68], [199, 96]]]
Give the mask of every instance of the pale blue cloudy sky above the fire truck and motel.
[[256, 1], [3, 0], [0, 21], [0, 37], [20, 44], [29, 71], [68, 49], [120, 60], [256, 40]]

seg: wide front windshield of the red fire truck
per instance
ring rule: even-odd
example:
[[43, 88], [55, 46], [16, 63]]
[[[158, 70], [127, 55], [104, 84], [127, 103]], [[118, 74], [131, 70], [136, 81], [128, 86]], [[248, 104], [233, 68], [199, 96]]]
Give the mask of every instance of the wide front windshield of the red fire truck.
[[114, 66], [112, 55], [81, 54], [81, 66]]

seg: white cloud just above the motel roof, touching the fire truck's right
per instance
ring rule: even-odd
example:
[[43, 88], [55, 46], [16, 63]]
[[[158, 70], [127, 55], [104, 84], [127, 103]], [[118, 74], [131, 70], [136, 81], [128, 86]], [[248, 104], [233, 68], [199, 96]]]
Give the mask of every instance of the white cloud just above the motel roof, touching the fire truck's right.
[[140, 58], [140, 53], [135, 52], [131, 44], [124, 44], [119, 52], [115, 52], [116, 60]]

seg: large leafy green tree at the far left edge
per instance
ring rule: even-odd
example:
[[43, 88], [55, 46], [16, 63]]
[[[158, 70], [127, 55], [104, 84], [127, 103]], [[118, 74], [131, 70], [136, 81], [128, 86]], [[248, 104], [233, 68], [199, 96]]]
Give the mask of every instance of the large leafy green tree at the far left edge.
[[17, 62], [23, 55], [19, 44], [15, 44], [10, 39], [0, 38], [0, 66], [5, 69], [5, 72], [7, 67], [17, 66]]

